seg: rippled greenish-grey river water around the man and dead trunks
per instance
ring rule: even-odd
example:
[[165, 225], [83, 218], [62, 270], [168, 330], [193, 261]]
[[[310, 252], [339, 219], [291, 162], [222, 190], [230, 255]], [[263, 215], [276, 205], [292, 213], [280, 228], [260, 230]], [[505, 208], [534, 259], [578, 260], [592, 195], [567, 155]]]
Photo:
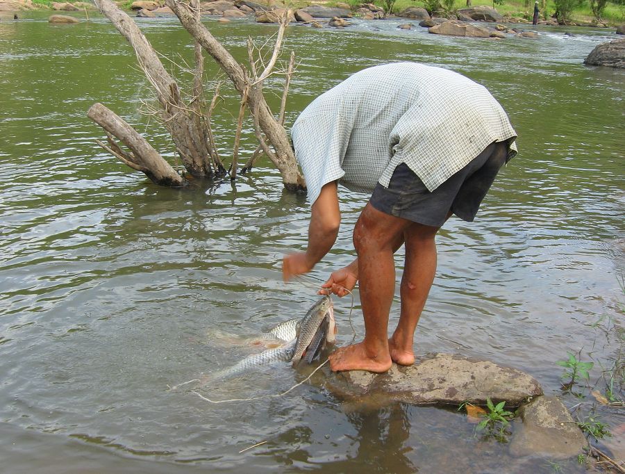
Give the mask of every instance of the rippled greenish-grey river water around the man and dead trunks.
[[[335, 249], [308, 283], [283, 284], [281, 256], [305, 247], [309, 210], [266, 162], [234, 186], [179, 191], [153, 186], [95, 144], [103, 133], [86, 111], [101, 101], [173, 156], [163, 129], [139, 113], [153, 97], [131, 48], [106, 19], [90, 17], [73, 26], [40, 13], [0, 21], [0, 471], [553, 471], [549, 459], [514, 457], [508, 444], [474, 434], [460, 412], [346, 403], [322, 379], [226, 404], [167, 391], [249, 353], [216, 334], [253, 336], [303, 315], [317, 299], [310, 282], [352, 258], [351, 229], [367, 196], [342, 191]], [[415, 348], [524, 370], [550, 395], [561, 393], [555, 362], [581, 351], [595, 361], [594, 384], [600, 363], [617, 357], [625, 299], [625, 73], [585, 67], [583, 58], [614, 33], [539, 28], [539, 40], [494, 42], [399, 23], [290, 28], [286, 49], [299, 66], [288, 123], [320, 92], [387, 61], [449, 67], [486, 85], [508, 111], [520, 153], [476, 222], [452, 219], [440, 232]], [[140, 24], [174, 63], [192, 57], [175, 19]], [[207, 24], [240, 60], [247, 35], [262, 42], [276, 29]], [[278, 79], [267, 89], [279, 92]], [[224, 97], [215, 133], [229, 161], [237, 104], [232, 91]], [[247, 123], [244, 154], [254, 147]], [[357, 292], [353, 304], [361, 337]], [[344, 344], [351, 302], [335, 306]], [[396, 298], [391, 324], [397, 308]], [[299, 380], [279, 365], [205, 395], [271, 395]], [[604, 416], [612, 430], [624, 421]]]

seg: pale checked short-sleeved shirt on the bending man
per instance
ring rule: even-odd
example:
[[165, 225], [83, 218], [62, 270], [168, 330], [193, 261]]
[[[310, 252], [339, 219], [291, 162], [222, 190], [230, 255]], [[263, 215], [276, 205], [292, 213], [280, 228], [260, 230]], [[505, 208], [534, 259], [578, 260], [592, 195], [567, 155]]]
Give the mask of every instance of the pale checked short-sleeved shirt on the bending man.
[[293, 124], [297, 161], [314, 203], [324, 184], [387, 187], [406, 163], [433, 191], [492, 142], [508, 140], [508, 115], [482, 85], [417, 63], [369, 67], [315, 99]]

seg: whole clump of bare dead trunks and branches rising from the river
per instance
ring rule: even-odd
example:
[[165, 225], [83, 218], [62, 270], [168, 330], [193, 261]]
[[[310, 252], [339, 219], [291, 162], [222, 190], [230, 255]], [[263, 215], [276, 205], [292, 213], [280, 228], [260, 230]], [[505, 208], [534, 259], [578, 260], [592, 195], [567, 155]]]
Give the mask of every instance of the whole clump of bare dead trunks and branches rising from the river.
[[[278, 33], [276, 34], [272, 56], [267, 62], [267, 66], [258, 74], [253, 58], [250, 59], [251, 72], [248, 72], [231, 56], [222, 44], [213, 37], [210, 31], [203, 26], [200, 21], [199, 2], [197, 0], [191, 0], [192, 3], [190, 4], [183, 3], [179, 0], [167, 0], [167, 6], [172, 8], [183, 26], [192, 35], [195, 42], [195, 70], [191, 90], [192, 97], [185, 101], [181, 94], [181, 89], [178, 87], [178, 83], [167, 73], [158, 54], [141, 33], [133, 19], [117, 8], [115, 3], [111, 0], [94, 1], [101, 13], [110, 19], [110, 22], [117, 28], [117, 31], [124, 35], [124, 38], [128, 40], [135, 50], [138, 63], [156, 91], [156, 97], [160, 104], [160, 110], [151, 111], [151, 113], [158, 115], [160, 121], [167, 131], [169, 131], [176, 145], [176, 152], [180, 155], [181, 161], [188, 174], [194, 177], [212, 178], [221, 177], [228, 173], [219, 158], [219, 154], [217, 154], [215, 136], [210, 126], [210, 117], [215, 109], [217, 98], [219, 97], [219, 85], [215, 90], [215, 96], [210, 101], [210, 106], [207, 107], [204, 98], [204, 60], [202, 51], [206, 51], [226, 73], [226, 76], [228, 76], [228, 79], [241, 96], [240, 113], [236, 127], [235, 149], [233, 151], [233, 163], [230, 170], [231, 179], [235, 179], [237, 174], [238, 145], [240, 142], [242, 121], [247, 109], [253, 116], [255, 134], [260, 144], [258, 149], [262, 149], [278, 168], [283, 177], [285, 188], [294, 191], [306, 189], [306, 183], [297, 167], [294, 152], [283, 125], [288, 83], [294, 67], [293, 55], [290, 60], [290, 66], [286, 71], [287, 79], [285, 81], [285, 90], [278, 118], [274, 117], [263, 95], [263, 81], [276, 72], [275, 67], [281, 52], [284, 31], [288, 25], [288, 17], [286, 15], [282, 19]], [[90, 109], [89, 116], [92, 120], [101, 125], [109, 135], [109, 145], [104, 145], [100, 142], [102, 147], [114, 156], [117, 156], [117, 158], [134, 170], [140, 170], [147, 174], [155, 183], [165, 186], [181, 186], [181, 183], [184, 182], [184, 178], [178, 177], [174, 179], [174, 174], [178, 173], [169, 165], [167, 165], [169, 166], [169, 169], [167, 169], [163, 164], [167, 163], [163, 157], [150, 147], [147, 141], [138, 133], [129, 133], [128, 129], [131, 129], [131, 127], [113, 112], [108, 111], [108, 109], [106, 109], [106, 116], [117, 117], [115, 120], [117, 125], [112, 126], [108, 124], [105, 126], [103, 119], [101, 119], [101, 109], [106, 108], [101, 106], [101, 104], [96, 104], [96, 106]], [[124, 126], [119, 125], [122, 122]], [[131, 149], [131, 153], [123, 152], [113, 139], [113, 136], [117, 137], [126, 147]], [[124, 136], [124, 138], [122, 138], [122, 136]], [[133, 137], [132, 140], [128, 138], [130, 136]], [[138, 147], [133, 145], [135, 142], [141, 142], [142, 146]], [[142, 153], [146, 153], [147, 155], [142, 156]], [[258, 152], [248, 161], [250, 167], [256, 156], [258, 156]], [[246, 169], [249, 169], [249, 167], [244, 167], [244, 170]]]

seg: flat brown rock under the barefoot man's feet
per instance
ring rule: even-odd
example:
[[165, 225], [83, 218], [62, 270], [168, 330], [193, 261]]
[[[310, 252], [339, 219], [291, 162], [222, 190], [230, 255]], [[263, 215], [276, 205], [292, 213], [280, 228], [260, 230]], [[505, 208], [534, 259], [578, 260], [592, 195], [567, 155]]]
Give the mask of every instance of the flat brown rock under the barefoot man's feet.
[[397, 366], [383, 374], [364, 370], [331, 373], [324, 367], [329, 389], [344, 397], [371, 395], [386, 402], [412, 404], [485, 404], [505, 400], [518, 407], [542, 395], [540, 384], [519, 370], [457, 354], [428, 354], [412, 366]]

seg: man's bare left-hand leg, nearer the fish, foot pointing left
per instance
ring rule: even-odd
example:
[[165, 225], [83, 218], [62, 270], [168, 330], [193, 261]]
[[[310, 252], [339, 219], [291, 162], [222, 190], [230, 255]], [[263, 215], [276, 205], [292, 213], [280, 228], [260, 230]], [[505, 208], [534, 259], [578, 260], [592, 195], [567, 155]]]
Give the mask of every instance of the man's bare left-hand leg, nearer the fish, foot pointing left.
[[330, 368], [386, 372], [392, 360], [388, 346], [388, 313], [395, 291], [393, 253], [412, 222], [377, 211], [367, 204], [353, 232], [358, 254], [360, 301], [365, 318], [363, 342], [336, 350]]

